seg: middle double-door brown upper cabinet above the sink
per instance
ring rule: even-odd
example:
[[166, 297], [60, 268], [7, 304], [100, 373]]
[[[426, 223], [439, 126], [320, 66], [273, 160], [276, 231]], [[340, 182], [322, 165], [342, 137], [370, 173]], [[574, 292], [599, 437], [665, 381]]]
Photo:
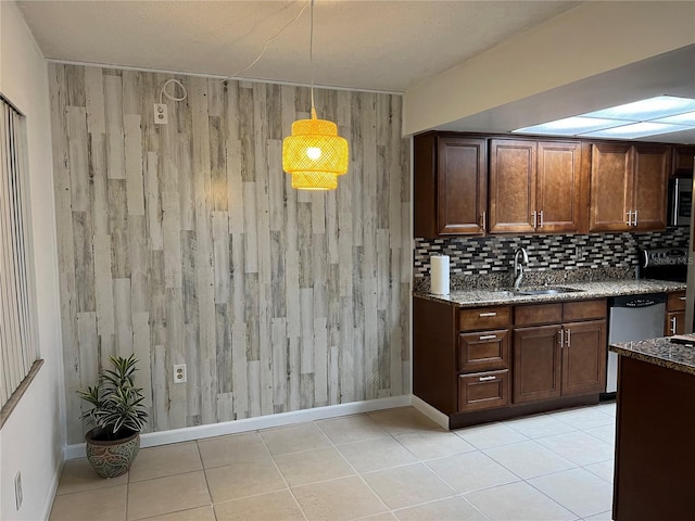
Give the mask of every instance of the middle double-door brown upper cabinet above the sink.
[[579, 141], [490, 141], [490, 232], [585, 229]]

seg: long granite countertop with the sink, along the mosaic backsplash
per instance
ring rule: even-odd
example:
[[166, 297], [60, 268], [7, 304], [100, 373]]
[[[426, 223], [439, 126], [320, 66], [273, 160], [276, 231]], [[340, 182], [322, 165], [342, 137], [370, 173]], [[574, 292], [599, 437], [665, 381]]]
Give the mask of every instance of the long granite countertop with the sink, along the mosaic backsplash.
[[[428, 292], [413, 292], [413, 296], [428, 298], [456, 306], [479, 307], [504, 304], [528, 304], [560, 301], [584, 301], [587, 298], [601, 298], [605, 296], [634, 295], [643, 293], [665, 293], [685, 290], [685, 282], [670, 282], [650, 279], [606, 280], [601, 282], [567, 282], [559, 285], [576, 290], [572, 292], [556, 293], [551, 295], [522, 295], [508, 289], [472, 289], [456, 290], [448, 295], [438, 295]], [[521, 289], [529, 289], [521, 285]]]

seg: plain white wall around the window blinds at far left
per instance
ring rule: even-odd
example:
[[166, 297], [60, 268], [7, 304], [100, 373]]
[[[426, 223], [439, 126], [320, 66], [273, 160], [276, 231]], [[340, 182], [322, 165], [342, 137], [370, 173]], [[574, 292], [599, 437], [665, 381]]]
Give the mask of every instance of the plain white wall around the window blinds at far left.
[[[46, 360], [0, 430], [0, 519], [35, 521], [50, 512], [65, 445], [48, 72], [14, 2], [0, 1], [0, 92], [27, 123], [39, 353]], [[24, 493], [18, 511], [17, 471]]]

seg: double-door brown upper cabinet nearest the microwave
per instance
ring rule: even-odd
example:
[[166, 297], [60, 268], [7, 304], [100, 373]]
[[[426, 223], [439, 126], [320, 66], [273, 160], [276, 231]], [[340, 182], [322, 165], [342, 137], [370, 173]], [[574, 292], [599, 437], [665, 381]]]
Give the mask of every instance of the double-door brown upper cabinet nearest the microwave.
[[593, 143], [590, 231], [666, 229], [671, 147]]

